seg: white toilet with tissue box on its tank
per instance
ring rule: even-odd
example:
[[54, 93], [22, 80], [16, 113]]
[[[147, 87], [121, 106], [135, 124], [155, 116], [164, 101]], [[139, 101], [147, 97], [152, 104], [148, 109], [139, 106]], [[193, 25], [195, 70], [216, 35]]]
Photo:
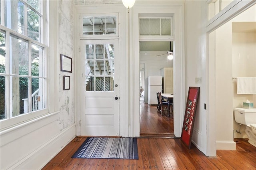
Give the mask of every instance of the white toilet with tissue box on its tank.
[[256, 108], [234, 108], [234, 112], [236, 123], [246, 125], [245, 133], [248, 136], [248, 142], [256, 147]]

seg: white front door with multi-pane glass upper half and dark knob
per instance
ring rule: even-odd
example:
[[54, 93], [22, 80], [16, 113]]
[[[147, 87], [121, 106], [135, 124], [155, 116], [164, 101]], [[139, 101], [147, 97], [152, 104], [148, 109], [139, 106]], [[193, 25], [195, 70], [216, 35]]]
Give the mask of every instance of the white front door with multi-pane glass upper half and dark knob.
[[82, 136], [119, 136], [118, 40], [80, 40]]

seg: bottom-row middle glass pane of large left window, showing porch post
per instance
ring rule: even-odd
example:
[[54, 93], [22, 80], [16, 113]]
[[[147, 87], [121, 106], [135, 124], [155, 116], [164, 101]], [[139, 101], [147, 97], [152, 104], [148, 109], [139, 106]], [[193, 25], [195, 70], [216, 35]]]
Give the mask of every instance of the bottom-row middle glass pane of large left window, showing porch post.
[[29, 112], [28, 77], [10, 77], [12, 114], [10, 117]]

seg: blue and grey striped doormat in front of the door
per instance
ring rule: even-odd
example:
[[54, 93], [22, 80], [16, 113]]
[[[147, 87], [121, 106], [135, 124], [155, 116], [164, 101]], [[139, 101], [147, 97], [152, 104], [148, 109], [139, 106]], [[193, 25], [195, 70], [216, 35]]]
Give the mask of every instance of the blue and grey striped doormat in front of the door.
[[72, 158], [138, 159], [137, 138], [88, 137]]

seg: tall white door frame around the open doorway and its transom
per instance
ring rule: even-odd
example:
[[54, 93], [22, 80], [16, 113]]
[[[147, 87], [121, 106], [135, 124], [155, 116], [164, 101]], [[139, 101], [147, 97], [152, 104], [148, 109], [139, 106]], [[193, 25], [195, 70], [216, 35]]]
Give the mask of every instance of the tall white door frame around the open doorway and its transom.
[[[185, 106], [185, 56], [184, 56], [184, 7], [182, 3], [177, 2], [136, 2], [135, 6], [130, 9], [131, 19], [130, 23], [130, 69], [133, 70], [132, 79], [130, 80], [130, 91], [131, 98], [131, 122], [134, 126], [131, 127], [131, 136], [140, 136], [140, 102], [139, 102], [139, 72], [140, 72], [140, 61], [139, 61], [139, 15], [140, 14], [172, 14], [175, 37], [171, 41], [174, 42], [174, 55], [176, 56], [173, 61], [174, 68], [174, 135], [176, 137], [181, 136], [182, 122], [184, 116]], [[162, 40], [162, 39], [160, 39]], [[138, 97], [137, 97], [138, 96]], [[180, 114], [182, 113], [182, 114]]]

